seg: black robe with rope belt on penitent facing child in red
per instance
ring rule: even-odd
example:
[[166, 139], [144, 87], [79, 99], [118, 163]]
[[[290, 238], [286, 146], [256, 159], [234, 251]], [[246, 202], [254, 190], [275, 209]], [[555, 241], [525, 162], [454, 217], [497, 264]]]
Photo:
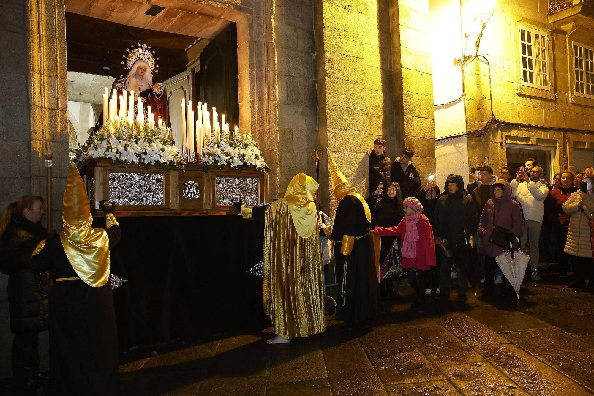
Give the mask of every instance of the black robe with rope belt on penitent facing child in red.
[[[343, 281], [344, 263], [346, 270], [346, 305], [343, 297], [338, 297], [336, 319], [356, 322], [371, 320], [378, 315], [380, 307], [380, 288], [375, 269], [373, 235], [371, 222], [367, 221], [365, 209], [359, 199], [352, 195], [344, 197], [336, 208], [332, 225], [334, 259], [339, 285]], [[361, 237], [355, 240], [349, 256], [340, 253], [343, 235]]]

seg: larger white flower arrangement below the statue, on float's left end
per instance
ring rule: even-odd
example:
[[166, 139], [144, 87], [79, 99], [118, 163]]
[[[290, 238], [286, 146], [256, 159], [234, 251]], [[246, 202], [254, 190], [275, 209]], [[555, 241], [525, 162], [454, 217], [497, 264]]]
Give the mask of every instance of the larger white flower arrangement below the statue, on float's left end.
[[184, 168], [184, 161], [179, 149], [172, 140], [171, 130], [163, 125], [149, 128], [138, 122], [134, 125], [127, 121], [114, 127], [112, 123], [104, 125], [94, 136], [78, 149], [74, 150], [74, 163], [79, 168], [96, 158], [111, 159], [114, 164], [137, 164], [170, 166]]

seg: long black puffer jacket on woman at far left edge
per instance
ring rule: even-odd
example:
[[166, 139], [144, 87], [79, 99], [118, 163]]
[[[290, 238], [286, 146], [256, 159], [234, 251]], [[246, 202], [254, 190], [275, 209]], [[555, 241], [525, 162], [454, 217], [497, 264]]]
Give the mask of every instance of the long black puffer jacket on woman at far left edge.
[[48, 326], [49, 273], [33, 274], [31, 253], [48, 237], [40, 223], [15, 214], [0, 238], [0, 271], [8, 274], [10, 331], [43, 331]]

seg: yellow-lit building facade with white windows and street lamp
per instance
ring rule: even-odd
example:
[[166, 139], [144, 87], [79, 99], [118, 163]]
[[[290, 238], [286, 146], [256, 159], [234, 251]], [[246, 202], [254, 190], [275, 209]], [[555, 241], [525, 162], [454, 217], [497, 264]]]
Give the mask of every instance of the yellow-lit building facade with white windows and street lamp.
[[593, 164], [594, 2], [430, 6], [438, 181], [485, 157], [495, 174], [536, 158], [549, 180]]

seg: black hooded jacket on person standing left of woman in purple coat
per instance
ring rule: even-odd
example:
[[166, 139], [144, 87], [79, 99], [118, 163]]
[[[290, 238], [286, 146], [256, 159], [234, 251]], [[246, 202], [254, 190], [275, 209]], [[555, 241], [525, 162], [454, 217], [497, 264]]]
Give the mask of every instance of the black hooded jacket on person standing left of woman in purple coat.
[[[464, 180], [462, 176], [454, 175], [448, 178], [448, 183], [457, 183], [458, 191], [448, 193], [437, 201], [432, 219], [435, 237], [447, 238], [448, 245], [463, 243], [473, 236], [479, 226], [475, 203], [463, 194]], [[447, 191], [447, 189], [446, 189]]]

